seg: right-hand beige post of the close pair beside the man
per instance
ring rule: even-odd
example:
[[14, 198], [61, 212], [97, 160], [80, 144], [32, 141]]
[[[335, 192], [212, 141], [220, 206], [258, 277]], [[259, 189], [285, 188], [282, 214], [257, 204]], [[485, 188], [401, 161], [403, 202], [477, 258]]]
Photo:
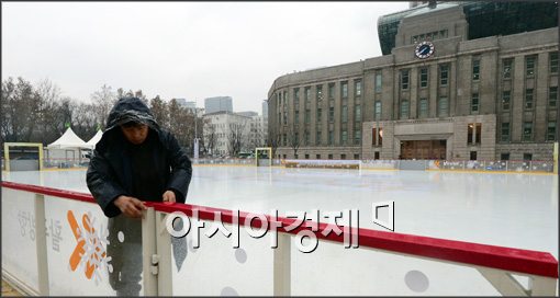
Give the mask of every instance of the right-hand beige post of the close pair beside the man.
[[[159, 296], [172, 296], [171, 234], [166, 228], [166, 213], [156, 211], [156, 243], [159, 256], [157, 288]], [[184, 248], [188, 249], [188, 248]]]

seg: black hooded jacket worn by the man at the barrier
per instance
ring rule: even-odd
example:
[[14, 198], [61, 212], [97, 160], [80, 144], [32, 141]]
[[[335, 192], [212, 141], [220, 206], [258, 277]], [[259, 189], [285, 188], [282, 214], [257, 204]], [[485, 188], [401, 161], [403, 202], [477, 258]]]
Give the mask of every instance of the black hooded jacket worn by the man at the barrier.
[[[134, 165], [131, 164], [131, 144], [124, 138], [120, 125], [127, 122], [147, 124], [148, 139], [153, 141], [153, 169], [158, 179], [150, 181], [165, 191], [176, 194], [177, 203], [184, 203], [192, 176], [190, 159], [170, 133], [159, 128], [149, 108], [137, 98], [119, 100], [109, 114], [107, 128], [87, 172], [88, 188], [107, 217], [115, 217], [121, 210], [113, 204], [120, 195], [133, 195]], [[147, 140], [146, 140], [147, 141]], [[149, 200], [161, 202], [163, 193]]]

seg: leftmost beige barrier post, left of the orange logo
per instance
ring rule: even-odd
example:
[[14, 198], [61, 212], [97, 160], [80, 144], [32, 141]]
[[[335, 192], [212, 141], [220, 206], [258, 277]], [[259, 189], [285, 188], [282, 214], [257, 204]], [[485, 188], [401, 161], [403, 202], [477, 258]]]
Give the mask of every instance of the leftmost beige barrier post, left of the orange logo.
[[35, 247], [37, 253], [38, 294], [41, 296], [48, 296], [45, 196], [41, 194], [35, 194]]

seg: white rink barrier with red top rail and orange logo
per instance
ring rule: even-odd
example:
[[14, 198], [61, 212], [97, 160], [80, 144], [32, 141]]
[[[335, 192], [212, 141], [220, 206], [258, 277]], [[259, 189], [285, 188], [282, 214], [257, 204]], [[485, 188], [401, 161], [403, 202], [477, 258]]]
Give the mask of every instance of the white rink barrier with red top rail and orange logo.
[[[43, 193], [35, 195], [33, 191], [3, 185], [2, 271], [10, 280], [27, 294], [115, 295], [109, 285], [113, 260], [105, 254], [110, 244], [108, 220], [99, 206], [82, 202], [90, 197], [10, 184], [10, 187]], [[82, 200], [57, 196], [76, 196]], [[44, 210], [37, 207], [41, 204]], [[304, 217], [298, 226], [292, 226], [300, 219], [287, 219], [287, 215], [279, 214], [267, 221], [268, 228], [259, 229], [247, 221], [253, 216], [248, 214], [235, 219], [236, 225], [233, 221], [236, 217], [228, 210], [224, 211], [229, 217], [217, 216], [217, 209], [209, 207], [152, 205], [155, 207], [138, 220], [143, 229], [145, 268], [141, 295], [550, 296], [558, 293], [558, 261], [549, 253], [358, 230], [354, 219], [344, 215], [340, 221], [325, 221], [317, 214], [321, 220], [309, 221]], [[166, 215], [171, 210], [187, 214], [197, 210], [203, 216], [190, 215], [190, 224], [184, 225], [187, 237], [171, 238], [166, 229]], [[41, 232], [33, 227], [41, 226], [37, 222], [42, 218], [46, 239], [41, 240]], [[279, 225], [276, 237], [270, 230], [272, 222]], [[327, 228], [335, 229], [332, 233], [339, 229], [340, 233], [327, 238]], [[349, 242], [344, 238], [343, 243], [346, 236]], [[117, 239], [126, 242], [127, 236], [119, 231]], [[45, 245], [37, 245], [41, 241]], [[314, 247], [313, 243], [316, 248], [305, 250]], [[506, 270], [513, 267], [517, 270]], [[42, 288], [44, 280], [48, 280], [46, 289]]]

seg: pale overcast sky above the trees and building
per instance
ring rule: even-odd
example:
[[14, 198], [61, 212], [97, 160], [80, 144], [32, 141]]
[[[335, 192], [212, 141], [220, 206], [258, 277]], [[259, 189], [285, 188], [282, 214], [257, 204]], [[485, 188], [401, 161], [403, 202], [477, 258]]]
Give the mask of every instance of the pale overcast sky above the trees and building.
[[89, 102], [101, 85], [152, 99], [228, 95], [261, 113], [293, 70], [381, 56], [377, 21], [408, 2], [2, 2], [2, 79], [49, 79]]

